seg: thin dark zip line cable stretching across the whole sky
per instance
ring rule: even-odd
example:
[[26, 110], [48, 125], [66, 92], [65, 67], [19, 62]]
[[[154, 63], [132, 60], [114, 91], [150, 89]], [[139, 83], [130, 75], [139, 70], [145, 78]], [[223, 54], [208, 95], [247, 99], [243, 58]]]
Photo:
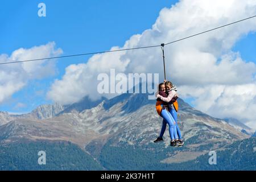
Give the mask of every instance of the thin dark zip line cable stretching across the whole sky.
[[191, 36], [187, 36], [187, 37], [185, 37], [185, 38], [178, 39], [178, 40], [175, 40], [175, 41], [173, 41], [173, 42], [169, 42], [169, 43], [166, 43], [166, 44], [160, 44], [160, 45], [156, 45], [156, 46], [135, 47], [135, 48], [127, 48], [127, 49], [117, 49], [117, 50], [112, 50], [112, 51], [89, 52], [89, 53], [81, 53], [81, 54], [76, 54], [76, 55], [46, 57], [46, 58], [31, 59], [31, 60], [11, 61], [11, 62], [6, 62], [6, 63], [0, 63], [0, 65], [3, 65], [3, 64], [14, 64], [14, 63], [24, 63], [24, 62], [30, 62], [30, 61], [49, 60], [49, 59], [58, 59], [58, 58], [64, 58], [64, 57], [75, 57], [75, 56], [94, 55], [94, 54], [98, 54], [98, 53], [108, 53], [108, 52], [118, 52], [118, 51], [130, 51], [130, 50], [134, 50], [134, 49], [144, 49], [144, 48], [153, 48], [153, 47], [163, 47], [163, 46], [167, 46], [168, 44], [172, 44], [172, 43], [175, 43], [175, 42], [179, 42], [179, 41], [181, 41], [181, 40], [184, 40], [184, 39], [192, 38], [193, 36], [197, 36], [197, 35], [200, 35], [200, 34], [205, 34], [205, 33], [207, 33], [207, 32], [216, 30], [216, 29], [218, 29], [218, 28], [230, 26], [231, 24], [235, 24], [235, 23], [238, 23], [238, 22], [242, 22], [242, 21], [244, 21], [244, 20], [251, 19], [251, 18], [254, 18], [254, 17], [256, 17], [256, 15], [250, 16], [250, 17], [245, 18], [245, 19], [238, 20], [238, 21], [236, 21], [236, 22], [232, 22], [232, 23], [229, 23], [229, 24], [225, 24], [224, 26], [212, 28], [212, 29], [210, 29], [210, 30], [207, 30], [207, 31], [204, 31], [204, 32], [200, 32], [200, 33], [198, 33], [198, 34], [194, 34], [194, 35], [191, 35]]

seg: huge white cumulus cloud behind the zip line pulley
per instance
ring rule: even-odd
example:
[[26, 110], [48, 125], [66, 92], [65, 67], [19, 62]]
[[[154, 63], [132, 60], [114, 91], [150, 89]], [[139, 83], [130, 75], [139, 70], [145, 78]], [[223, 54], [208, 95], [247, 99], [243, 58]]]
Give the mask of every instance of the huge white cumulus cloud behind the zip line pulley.
[[[120, 48], [171, 42], [255, 14], [254, 0], [182, 0], [170, 8], [162, 9], [151, 29], [131, 36]], [[205, 107], [205, 111], [217, 117], [232, 115], [232, 112], [225, 114], [214, 110], [217, 107], [215, 103], [223, 96], [222, 92], [228, 95], [225, 90], [236, 88], [232, 87], [234, 85], [245, 87], [255, 84], [255, 64], [242, 60], [239, 52], [232, 52], [232, 47], [242, 36], [255, 30], [255, 19], [250, 19], [166, 46], [167, 78], [182, 88], [183, 96], [191, 94], [196, 97], [195, 105], [200, 109]], [[67, 67], [63, 78], [55, 80], [51, 86], [48, 98], [63, 104], [76, 102], [84, 96], [94, 100], [100, 98], [102, 94], [97, 92], [97, 76], [99, 73], [109, 73], [110, 68], [125, 74], [159, 73], [162, 79], [162, 51], [160, 48], [148, 48], [94, 55], [87, 63]], [[209, 89], [213, 85], [217, 91]], [[201, 93], [200, 97], [192, 90]], [[236, 95], [231, 94], [229, 97]], [[249, 103], [247, 100], [242, 101], [245, 105]], [[232, 110], [234, 103], [228, 103], [226, 108]], [[235, 111], [233, 114], [233, 117], [238, 115]], [[247, 121], [251, 119], [245, 114], [243, 118]]]

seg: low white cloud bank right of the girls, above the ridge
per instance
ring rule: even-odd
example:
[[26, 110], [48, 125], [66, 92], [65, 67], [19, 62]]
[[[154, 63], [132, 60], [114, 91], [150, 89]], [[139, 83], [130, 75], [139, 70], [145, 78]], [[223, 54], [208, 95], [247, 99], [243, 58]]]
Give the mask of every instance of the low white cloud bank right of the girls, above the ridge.
[[218, 118], [237, 118], [256, 129], [256, 82], [239, 85], [181, 86], [180, 97]]

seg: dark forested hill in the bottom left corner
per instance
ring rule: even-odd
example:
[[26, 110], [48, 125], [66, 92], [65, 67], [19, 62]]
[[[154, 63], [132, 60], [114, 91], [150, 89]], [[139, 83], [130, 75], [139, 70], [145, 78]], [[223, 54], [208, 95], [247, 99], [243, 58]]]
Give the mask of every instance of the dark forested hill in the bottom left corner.
[[[38, 152], [46, 152], [46, 165], [38, 164]], [[22, 140], [0, 144], [0, 170], [102, 170], [80, 147], [70, 142]]]

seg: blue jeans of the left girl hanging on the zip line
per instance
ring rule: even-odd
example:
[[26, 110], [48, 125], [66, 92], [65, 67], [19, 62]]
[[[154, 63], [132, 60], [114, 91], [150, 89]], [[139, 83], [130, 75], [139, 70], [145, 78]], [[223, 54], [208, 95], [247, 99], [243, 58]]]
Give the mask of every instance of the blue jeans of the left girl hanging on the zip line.
[[174, 125], [175, 120], [172, 117], [171, 113], [169, 113], [167, 109], [163, 109], [161, 111], [161, 116], [163, 117], [163, 125], [159, 137], [163, 138], [163, 134], [164, 131], [166, 131], [166, 125], [168, 123], [171, 140], [177, 139], [177, 130], [175, 130], [176, 124]]

